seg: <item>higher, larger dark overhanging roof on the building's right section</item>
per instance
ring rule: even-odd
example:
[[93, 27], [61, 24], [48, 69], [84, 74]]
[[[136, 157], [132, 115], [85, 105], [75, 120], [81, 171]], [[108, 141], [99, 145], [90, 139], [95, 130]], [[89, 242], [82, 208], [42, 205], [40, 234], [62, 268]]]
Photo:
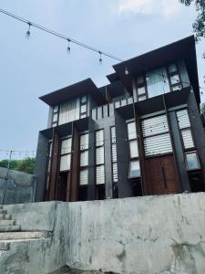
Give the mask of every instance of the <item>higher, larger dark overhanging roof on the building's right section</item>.
[[[149, 51], [146, 54], [114, 65], [113, 68], [116, 70], [116, 75], [115, 73], [110, 74], [108, 75], [108, 79], [110, 82], [115, 79], [120, 79], [128, 89], [129, 93], [132, 93], [133, 75], [144, 73], [150, 69], [164, 66], [179, 59], [183, 59], [186, 63], [190, 82], [199, 103], [200, 89], [194, 36], [186, 37], [165, 47], [159, 47], [158, 49]], [[125, 74], [126, 66], [129, 71], [128, 75]]]

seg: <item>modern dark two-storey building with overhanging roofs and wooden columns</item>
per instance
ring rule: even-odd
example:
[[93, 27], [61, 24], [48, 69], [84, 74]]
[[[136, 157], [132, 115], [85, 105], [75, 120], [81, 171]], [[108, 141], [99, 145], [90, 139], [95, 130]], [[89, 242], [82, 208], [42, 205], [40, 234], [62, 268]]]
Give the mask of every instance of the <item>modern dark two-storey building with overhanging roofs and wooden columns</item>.
[[194, 37], [42, 96], [36, 201], [205, 191], [205, 134]]

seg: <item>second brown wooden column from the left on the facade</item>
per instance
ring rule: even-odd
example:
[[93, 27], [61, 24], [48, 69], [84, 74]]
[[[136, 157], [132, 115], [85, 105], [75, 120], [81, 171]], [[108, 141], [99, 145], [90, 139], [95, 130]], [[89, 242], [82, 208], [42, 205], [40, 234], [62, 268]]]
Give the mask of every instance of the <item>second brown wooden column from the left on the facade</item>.
[[[71, 161], [71, 173], [67, 176], [67, 201], [72, 202], [78, 199], [79, 188], [79, 133], [77, 128], [73, 124], [72, 134], [72, 161]], [[68, 198], [69, 197], [69, 198]]]

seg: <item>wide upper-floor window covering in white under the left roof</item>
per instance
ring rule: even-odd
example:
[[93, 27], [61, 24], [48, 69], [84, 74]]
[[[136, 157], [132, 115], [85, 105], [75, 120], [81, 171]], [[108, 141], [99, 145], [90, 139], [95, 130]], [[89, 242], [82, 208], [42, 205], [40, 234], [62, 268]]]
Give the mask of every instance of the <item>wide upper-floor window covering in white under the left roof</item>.
[[58, 124], [79, 119], [79, 99], [68, 100], [60, 105]]

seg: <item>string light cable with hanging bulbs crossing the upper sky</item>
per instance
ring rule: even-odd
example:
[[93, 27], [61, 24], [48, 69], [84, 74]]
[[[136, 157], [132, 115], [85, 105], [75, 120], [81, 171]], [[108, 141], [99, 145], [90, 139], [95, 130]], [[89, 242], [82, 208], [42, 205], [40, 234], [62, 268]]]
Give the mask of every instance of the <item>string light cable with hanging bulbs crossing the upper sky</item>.
[[[114, 55], [112, 55], [112, 54], [110, 54], [110, 53], [108, 53], [108, 52], [105, 52], [105, 51], [103, 51], [103, 50], [101, 50], [101, 49], [98, 49], [97, 47], [89, 46], [89, 45], [87, 45], [87, 44], [85, 44], [85, 43], [82, 43], [82, 42], [80, 42], [80, 41], [78, 41], [78, 40], [76, 40], [76, 39], [74, 39], [74, 38], [67, 37], [67, 36], [65, 36], [65, 35], [63, 35], [63, 34], [60, 34], [59, 32], [56, 32], [56, 31], [54, 31], [54, 30], [52, 30], [52, 29], [50, 29], [50, 28], [47, 28], [46, 26], [41, 26], [41, 25], [39, 25], [39, 24], [36, 24], [36, 23], [34, 23], [34, 22], [31, 22], [30, 20], [27, 20], [26, 18], [23, 18], [23, 17], [21, 17], [21, 16], [16, 16], [15, 14], [12, 14], [12, 13], [10, 13], [10, 12], [4, 10], [4, 9], [0, 9], [0, 12], [3, 13], [3, 14], [5, 14], [6, 16], [10, 16], [10, 17], [15, 18], [16, 20], [18, 20], [18, 21], [20, 21], [20, 22], [26, 23], [26, 24], [28, 25], [28, 30], [27, 30], [27, 32], [26, 32], [26, 37], [29, 37], [29, 36], [30, 36], [30, 28], [31, 28], [31, 27], [36, 27], [36, 28], [38, 28], [38, 29], [40, 29], [40, 30], [42, 30], [42, 31], [44, 31], [44, 32], [46, 32], [46, 33], [48, 33], [48, 34], [50, 34], [50, 35], [53, 35], [53, 36], [55, 36], [55, 37], [58, 37], [58, 38], [67, 40], [67, 43], [68, 43], [67, 51], [68, 51], [68, 52], [70, 52], [70, 50], [71, 50], [70, 43], [73, 43], [73, 44], [76, 44], [76, 45], [79, 46], [79, 47], [87, 48], [88, 50], [94, 51], [94, 52], [96, 52], [97, 54], [99, 54], [99, 63], [100, 63], [100, 64], [102, 63], [102, 56], [105, 56], [105, 57], [107, 57], [107, 58], [112, 58], [112, 59], [117, 60], [117, 61], [119, 61], [119, 62], [128, 62], [127, 60], [124, 60], [123, 58], [118, 58], [117, 56], [114, 56]], [[142, 68], [142, 69], [144, 69], [144, 70], [148, 70], [147, 68], [142, 67], [142, 66], [140, 66], [140, 65], [138, 65], [138, 64], [134, 64], [134, 66], [135, 66], [135, 67], [138, 67], [138, 68]], [[128, 75], [128, 73], [129, 73], [129, 72], [128, 72], [128, 65], [125, 64], [125, 74]], [[153, 74], [156, 74], [156, 75], [162, 77], [163, 79], [169, 79], [168, 76], [163, 75], [163, 74], [159, 74], [159, 73], [156, 73], [156, 72], [153, 72]], [[181, 80], [180, 82], [183, 83], [183, 84], [186, 84], [186, 85], [188, 85], [188, 84], [190, 85], [190, 83], [185, 82], [185, 81], [182, 81], [182, 80]], [[204, 87], [200, 87], [200, 86], [199, 86], [199, 89], [200, 89], [200, 90], [205, 90]]]

